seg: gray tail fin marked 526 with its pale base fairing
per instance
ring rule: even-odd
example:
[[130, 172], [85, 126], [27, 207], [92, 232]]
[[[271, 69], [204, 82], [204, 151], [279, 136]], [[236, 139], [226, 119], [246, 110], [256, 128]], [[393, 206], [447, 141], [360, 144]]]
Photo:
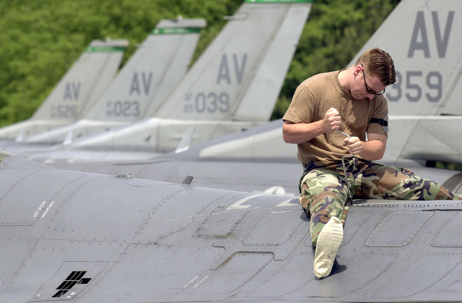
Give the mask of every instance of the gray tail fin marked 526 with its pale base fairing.
[[25, 136], [82, 118], [116, 74], [127, 40], [93, 40], [30, 119], [0, 129], [0, 138]]

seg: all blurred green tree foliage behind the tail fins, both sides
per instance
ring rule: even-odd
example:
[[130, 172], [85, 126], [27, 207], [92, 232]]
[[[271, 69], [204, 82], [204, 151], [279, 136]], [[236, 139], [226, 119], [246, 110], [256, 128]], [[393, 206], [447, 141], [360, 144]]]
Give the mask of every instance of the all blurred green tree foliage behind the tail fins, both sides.
[[[128, 39], [122, 64], [162, 18], [206, 18], [193, 61], [243, 0], [0, 1], [0, 126], [27, 119], [92, 39]], [[273, 119], [304, 79], [345, 67], [399, 0], [314, 0]]]

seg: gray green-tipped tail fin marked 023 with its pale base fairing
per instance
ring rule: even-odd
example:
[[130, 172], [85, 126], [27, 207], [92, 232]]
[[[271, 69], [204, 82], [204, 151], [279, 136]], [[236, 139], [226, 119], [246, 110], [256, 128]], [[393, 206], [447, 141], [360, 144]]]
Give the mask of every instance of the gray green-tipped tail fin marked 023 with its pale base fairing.
[[143, 118], [150, 104], [160, 103], [182, 79], [205, 26], [199, 18], [161, 20], [82, 120], [24, 141], [57, 144], [70, 133], [72, 142]]

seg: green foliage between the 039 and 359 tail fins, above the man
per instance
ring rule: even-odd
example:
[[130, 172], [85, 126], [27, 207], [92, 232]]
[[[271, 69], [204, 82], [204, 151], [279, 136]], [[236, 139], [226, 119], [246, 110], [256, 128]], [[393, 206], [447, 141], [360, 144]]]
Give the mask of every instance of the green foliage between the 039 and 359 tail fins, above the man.
[[282, 118], [297, 86], [345, 68], [399, 0], [315, 0], [273, 112]]

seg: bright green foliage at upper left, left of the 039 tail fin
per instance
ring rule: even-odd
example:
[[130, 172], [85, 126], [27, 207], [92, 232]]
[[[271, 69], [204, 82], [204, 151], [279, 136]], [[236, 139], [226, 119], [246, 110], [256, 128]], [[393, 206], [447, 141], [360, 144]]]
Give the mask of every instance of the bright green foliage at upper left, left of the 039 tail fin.
[[30, 117], [92, 39], [128, 39], [122, 64], [162, 18], [206, 18], [195, 58], [243, 0], [0, 1], [0, 126]]

